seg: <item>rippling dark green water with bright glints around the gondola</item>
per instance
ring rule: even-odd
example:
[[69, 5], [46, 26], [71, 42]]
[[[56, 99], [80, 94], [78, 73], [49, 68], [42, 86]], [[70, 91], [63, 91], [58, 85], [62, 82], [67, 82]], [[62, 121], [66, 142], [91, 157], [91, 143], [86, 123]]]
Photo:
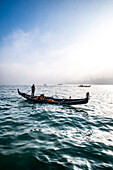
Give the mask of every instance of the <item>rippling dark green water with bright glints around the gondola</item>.
[[113, 169], [113, 86], [37, 86], [36, 93], [85, 97], [86, 105], [33, 104], [0, 86], [0, 170]]

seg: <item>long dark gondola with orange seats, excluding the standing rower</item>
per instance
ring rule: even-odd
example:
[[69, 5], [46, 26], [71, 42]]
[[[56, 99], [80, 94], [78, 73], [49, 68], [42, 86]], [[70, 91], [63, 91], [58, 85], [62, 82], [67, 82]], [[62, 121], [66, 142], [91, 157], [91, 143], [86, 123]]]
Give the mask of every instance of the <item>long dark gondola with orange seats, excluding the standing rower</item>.
[[32, 101], [34, 103], [48, 103], [48, 104], [58, 104], [58, 105], [77, 105], [77, 104], [87, 104], [89, 100], [89, 92], [86, 93], [86, 97], [82, 99], [56, 99], [53, 97], [44, 97], [43, 99], [40, 96], [31, 96], [26, 93], [20, 92], [17, 89], [18, 94], [24, 97], [25, 99]]

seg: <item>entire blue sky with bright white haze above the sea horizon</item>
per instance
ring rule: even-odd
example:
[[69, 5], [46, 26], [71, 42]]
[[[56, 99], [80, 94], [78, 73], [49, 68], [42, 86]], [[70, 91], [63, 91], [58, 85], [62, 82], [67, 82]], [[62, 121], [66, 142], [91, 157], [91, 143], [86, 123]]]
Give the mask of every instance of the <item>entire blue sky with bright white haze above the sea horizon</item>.
[[0, 0], [0, 85], [113, 84], [113, 0]]

